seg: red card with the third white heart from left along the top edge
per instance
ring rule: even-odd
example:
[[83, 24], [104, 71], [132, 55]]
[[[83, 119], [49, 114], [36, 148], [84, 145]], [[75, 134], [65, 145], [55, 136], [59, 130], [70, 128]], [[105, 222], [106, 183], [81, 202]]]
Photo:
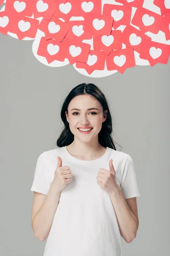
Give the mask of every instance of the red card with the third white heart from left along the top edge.
[[70, 20], [72, 16], [80, 16], [79, 0], [67, 0], [66, 3], [59, 3], [54, 16], [62, 18], [66, 22]]

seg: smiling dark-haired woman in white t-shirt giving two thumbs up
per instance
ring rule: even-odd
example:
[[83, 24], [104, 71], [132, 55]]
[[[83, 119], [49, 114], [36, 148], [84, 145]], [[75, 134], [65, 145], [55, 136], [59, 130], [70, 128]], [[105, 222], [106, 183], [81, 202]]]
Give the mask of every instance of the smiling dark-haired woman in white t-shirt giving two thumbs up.
[[117, 151], [107, 100], [94, 84], [79, 84], [66, 97], [65, 125], [57, 149], [37, 160], [32, 208], [34, 236], [43, 256], [121, 256], [139, 226], [136, 171]]

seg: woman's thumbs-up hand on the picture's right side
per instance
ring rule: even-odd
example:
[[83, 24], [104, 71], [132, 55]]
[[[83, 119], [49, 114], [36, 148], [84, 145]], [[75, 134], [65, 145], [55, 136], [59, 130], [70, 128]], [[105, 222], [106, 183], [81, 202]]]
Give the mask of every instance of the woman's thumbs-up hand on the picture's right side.
[[100, 168], [99, 172], [97, 173], [97, 184], [104, 189], [108, 194], [119, 189], [119, 185], [116, 182], [116, 172], [113, 167], [113, 160], [109, 161], [109, 169], [110, 171], [106, 170], [105, 168]]

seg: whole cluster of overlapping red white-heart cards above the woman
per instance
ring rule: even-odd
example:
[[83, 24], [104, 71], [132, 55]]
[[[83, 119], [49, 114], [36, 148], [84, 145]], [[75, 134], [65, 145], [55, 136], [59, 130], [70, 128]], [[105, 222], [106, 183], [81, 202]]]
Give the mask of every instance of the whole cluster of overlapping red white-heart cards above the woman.
[[[107, 70], [124, 73], [136, 64], [134, 51], [151, 66], [167, 64], [170, 45], [154, 42], [145, 33], [161, 30], [170, 40], [170, 0], [154, 0], [161, 15], [143, 8], [144, 0], [116, 2], [123, 5], [105, 3], [102, 9], [100, 0], [6, 0], [5, 11], [0, 12], [0, 32], [15, 33], [22, 40], [35, 38], [40, 29], [45, 36], [40, 40], [38, 55], [49, 64], [67, 58], [88, 74], [104, 70], [105, 63]], [[136, 12], [131, 23], [139, 29], [130, 25], [132, 7]], [[120, 25], [125, 25], [123, 32]], [[93, 48], [83, 40], [91, 40]]]

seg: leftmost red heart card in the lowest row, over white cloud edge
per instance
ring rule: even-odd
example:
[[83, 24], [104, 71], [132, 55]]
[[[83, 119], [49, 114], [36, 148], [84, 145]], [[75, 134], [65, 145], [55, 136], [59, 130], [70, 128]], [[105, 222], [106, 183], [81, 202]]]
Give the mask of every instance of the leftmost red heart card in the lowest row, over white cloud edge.
[[62, 43], [56, 41], [55, 39], [46, 40], [42, 37], [38, 47], [37, 55], [46, 58], [48, 63], [52, 61], [64, 61], [65, 57], [63, 55], [63, 45]]

